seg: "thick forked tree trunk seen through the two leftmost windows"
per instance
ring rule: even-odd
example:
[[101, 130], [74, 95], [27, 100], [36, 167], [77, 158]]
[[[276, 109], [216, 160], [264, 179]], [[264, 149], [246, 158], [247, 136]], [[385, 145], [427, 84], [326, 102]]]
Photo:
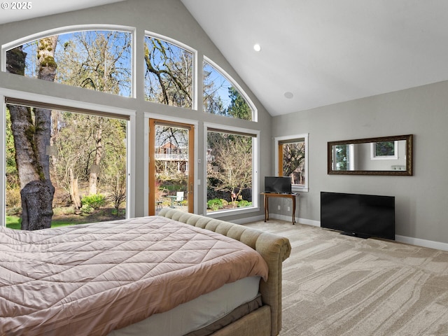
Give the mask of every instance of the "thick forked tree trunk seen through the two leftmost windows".
[[[38, 42], [38, 78], [55, 79], [55, 48], [57, 36]], [[22, 47], [7, 52], [6, 69], [10, 73], [25, 74], [26, 53]], [[50, 181], [50, 163], [46, 148], [50, 145], [51, 111], [34, 110], [26, 106], [8, 106], [11, 116], [15, 146], [15, 162], [20, 179], [22, 199], [22, 230], [38, 230], [51, 227], [52, 200], [55, 188]]]

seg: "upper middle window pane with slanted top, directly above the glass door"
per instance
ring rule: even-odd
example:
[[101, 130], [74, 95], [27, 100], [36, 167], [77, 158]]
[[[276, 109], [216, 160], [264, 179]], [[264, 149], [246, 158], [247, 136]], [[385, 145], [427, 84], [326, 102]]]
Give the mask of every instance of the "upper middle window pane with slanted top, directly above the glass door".
[[146, 100], [193, 109], [193, 52], [146, 36], [145, 64]]

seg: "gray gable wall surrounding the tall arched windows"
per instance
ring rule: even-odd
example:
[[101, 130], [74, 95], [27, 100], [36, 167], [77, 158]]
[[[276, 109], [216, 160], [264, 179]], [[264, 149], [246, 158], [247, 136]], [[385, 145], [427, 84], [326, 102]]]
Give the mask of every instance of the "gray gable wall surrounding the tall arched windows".
[[[114, 106], [116, 108], [123, 108], [136, 113], [136, 127], [132, 130], [136, 138], [136, 146], [134, 151], [135, 161], [135, 176], [134, 176], [134, 214], [136, 216], [144, 216], [144, 197], [145, 186], [144, 176], [147, 174], [145, 167], [144, 151], [145, 134], [144, 134], [144, 116], [145, 113], [155, 113], [166, 118], [185, 118], [187, 120], [196, 120], [198, 123], [199, 132], [199, 155], [202, 165], [197, 165], [199, 179], [202, 180], [202, 185], [198, 186], [197, 204], [199, 204], [199, 213], [202, 213], [202, 204], [204, 204], [206, 195], [203, 193], [203, 173], [206, 162], [204, 158], [204, 123], [215, 123], [222, 125], [229, 125], [234, 127], [244, 127], [250, 130], [260, 130], [260, 148], [265, 148], [260, 153], [260, 162], [270, 162], [272, 153], [270, 151], [271, 116], [265, 111], [263, 106], [258, 102], [258, 99], [248, 90], [245, 83], [232, 67], [225, 60], [221, 52], [211, 43], [207, 34], [202, 31], [200, 25], [188, 13], [188, 10], [183, 6], [179, 0], [128, 0], [120, 3], [113, 3], [111, 5], [99, 6], [96, 8], [89, 8], [87, 10], [78, 10], [71, 13], [63, 13], [59, 15], [50, 15], [46, 18], [37, 18], [34, 20], [25, 20], [22, 22], [12, 22], [6, 25], [0, 25], [0, 45], [10, 43], [18, 38], [23, 38], [31, 34], [36, 34], [41, 31], [49, 29], [56, 29], [58, 27], [66, 27], [70, 25], [123, 25], [136, 28], [137, 41], [137, 97], [126, 98], [117, 97], [111, 94], [102, 92], [94, 92], [91, 90], [83, 90], [76, 87], [68, 87], [66, 85], [58, 85], [56, 83], [42, 83], [43, 80], [33, 78], [24, 78], [15, 76], [10, 73], [0, 71], [0, 88], [11, 90], [18, 90], [20, 92], [31, 92], [42, 94], [47, 97], [56, 97], [71, 99], [75, 102], [87, 102], [97, 104], [98, 106]], [[212, 59], [216, 64], [227, 71], [232, 78], [234, 78], [239, 85], [245, 90], [250, 99], [253, 101], [258, 109], [258, 123], [249, 122], [246, 120], [235, 120], [232, 118], [225, 118], [221, 116], [212, 116], [202, 112], [202, 99], [198, 104], [198, 111], [190, 111], [187, 109], [177, 109], [172, 106], [163, 106], [160, 104], [153, 104], [144, 100], [144, 33], [151, 31], [156, 34], [174, 38], [176, 41], [184, 43], [190, 48], [194, 48], [198, 52], [198, 64], [202, 69], [202, 55], [206, 55]], [[3, 60], [2, 60], [3, 61]], [[199, 72], [202, 76], [202, 71]], [[202, 78], [198, 78], [198, 90], [202, 92]], [[1, 143], [1, 141], [0, 141]], [[207, 144], [206, 144], [207, 145]], [[1, 152], [0, 152], [1, 153]], [[269, 174], [272, 169], [271, 165], [260, 165], [259, 174], [264, 176]], [[3, 183], [3, 179], [1, 182]], [[0, 186], [3, 188], [3, 186]], [[1, 198], [1, 197], [0, 197]], [[261, 200], [260, 200], [261, 202]], [[262, 202], [260, 203], [262, 204]], [[258, 209], [250, 216], [260, 216], [263, 214], [262, 209]], [[247, 214], [244, 216], [248, 216]], [[238, 219], [243, 216], [227, 216], [223, 219]]]

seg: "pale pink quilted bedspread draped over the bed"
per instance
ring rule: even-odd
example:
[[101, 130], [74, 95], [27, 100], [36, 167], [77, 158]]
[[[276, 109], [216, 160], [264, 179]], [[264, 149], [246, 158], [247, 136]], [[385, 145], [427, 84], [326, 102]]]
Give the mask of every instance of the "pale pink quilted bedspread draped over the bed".
[[106, 335], [254, 275], [252, 248], [165, 217], [0, 228], [0, 335]]

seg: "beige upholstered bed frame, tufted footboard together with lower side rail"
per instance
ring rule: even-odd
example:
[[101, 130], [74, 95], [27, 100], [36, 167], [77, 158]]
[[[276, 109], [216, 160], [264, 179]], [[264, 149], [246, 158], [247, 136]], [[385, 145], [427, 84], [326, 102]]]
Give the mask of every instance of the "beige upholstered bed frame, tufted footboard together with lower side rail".
[[290, 255], [288, 239], [235, 223], [164, 208], [159, 216], [218, 232], [258, 251], [269, 267], [267, 281], [260, 282], [262, 307], [214, 332], [214, 336], [276, 336], [281, 330], [281, 267]]

